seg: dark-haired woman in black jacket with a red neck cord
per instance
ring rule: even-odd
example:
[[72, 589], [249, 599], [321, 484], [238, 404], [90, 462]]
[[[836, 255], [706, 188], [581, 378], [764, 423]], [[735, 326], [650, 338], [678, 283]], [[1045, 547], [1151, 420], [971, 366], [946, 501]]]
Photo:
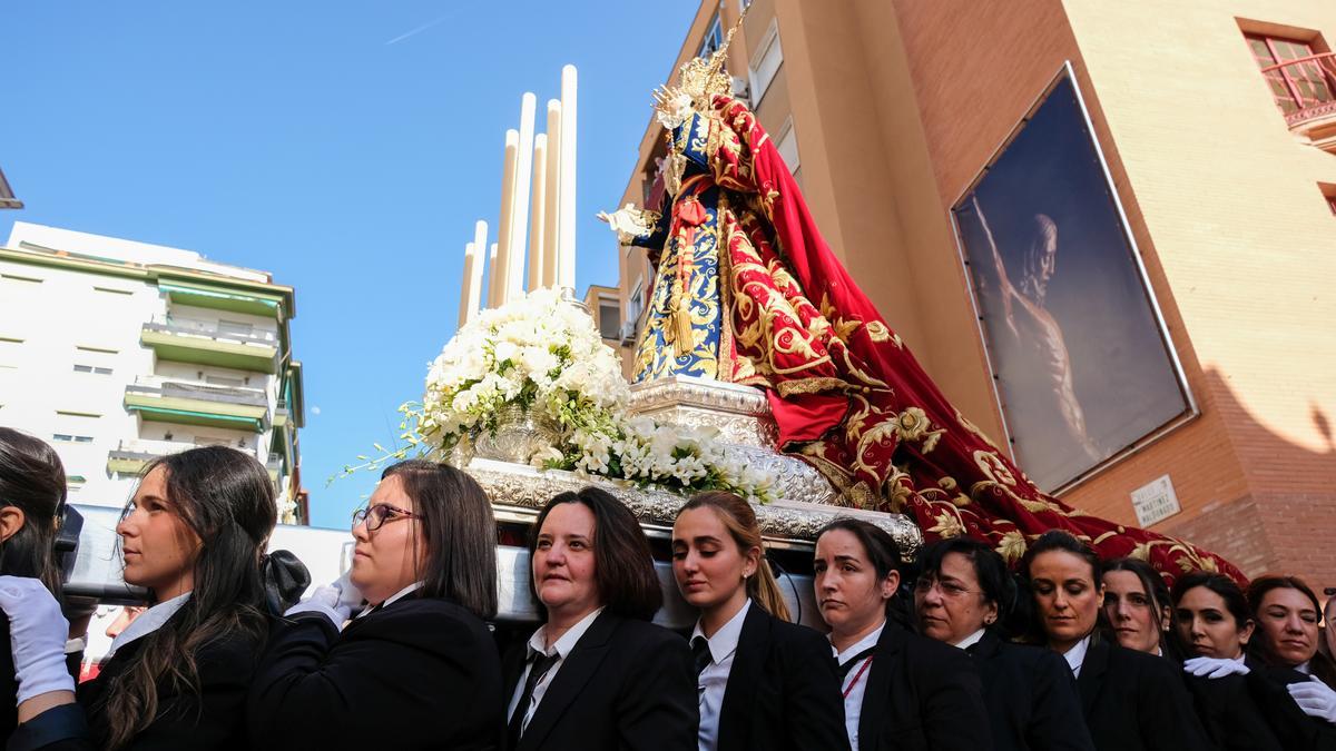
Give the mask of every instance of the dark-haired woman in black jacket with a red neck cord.
[[899, 547], [882, 528], [836, 518], [816, 533], [816, 604], [831, 627], [854, 751], [993, 748], [969, 655], [887, 619]]

